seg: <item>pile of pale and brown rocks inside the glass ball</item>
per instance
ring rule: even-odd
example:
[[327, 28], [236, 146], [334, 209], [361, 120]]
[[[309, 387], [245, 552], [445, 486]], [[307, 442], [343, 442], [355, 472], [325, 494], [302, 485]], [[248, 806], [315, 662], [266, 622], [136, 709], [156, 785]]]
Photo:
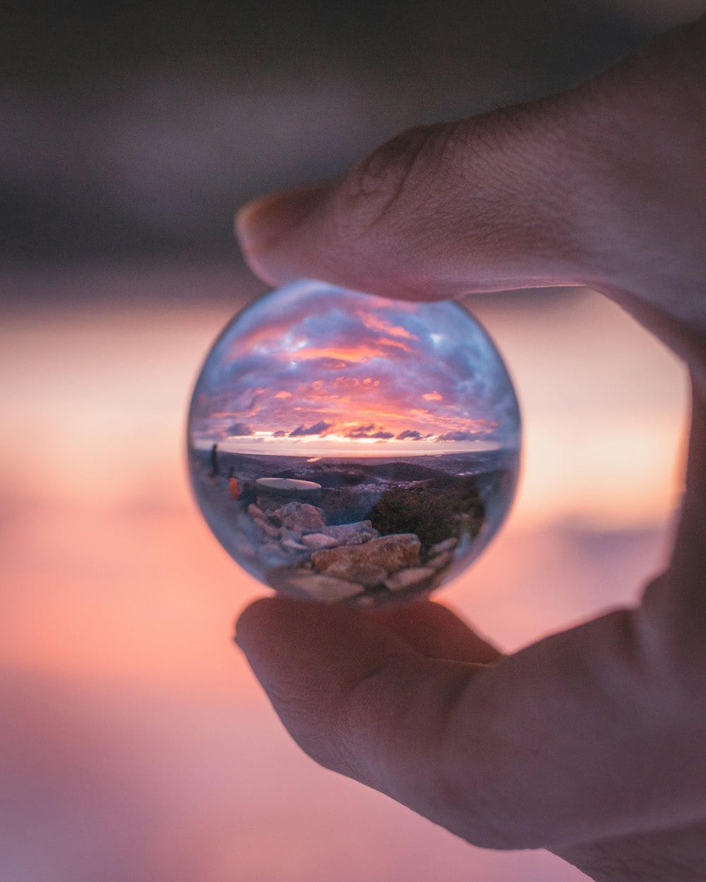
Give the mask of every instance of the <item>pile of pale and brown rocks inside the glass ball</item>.
[[381, 536], [370, 520], [329, 527], [320, 508], [296, 501], [274, 509], [252, 504], [247, 512], [262, 540], [278, 542], [297, 558], [287, 569], [286, 584], [325, 602], [350, 600], [371, 589], [426, 587], [451, 563], [458, 542], [454, 537], [439, 542], [423, 563], [416, 534]]

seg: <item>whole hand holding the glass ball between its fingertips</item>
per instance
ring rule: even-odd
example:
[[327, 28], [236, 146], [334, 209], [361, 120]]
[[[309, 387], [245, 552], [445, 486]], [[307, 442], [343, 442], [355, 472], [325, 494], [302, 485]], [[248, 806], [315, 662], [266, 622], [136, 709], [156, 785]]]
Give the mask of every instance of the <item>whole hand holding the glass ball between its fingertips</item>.
[[597, 880], [706, 879], [706, 19], [566, 93], [405, 132], [237, 230], [273, 283], [590, 285], [686, 361], [687, 490], [635, 609], [503, 656], [433, 602], [267, 598], [237, 643], [304, 751], [469, 842]]

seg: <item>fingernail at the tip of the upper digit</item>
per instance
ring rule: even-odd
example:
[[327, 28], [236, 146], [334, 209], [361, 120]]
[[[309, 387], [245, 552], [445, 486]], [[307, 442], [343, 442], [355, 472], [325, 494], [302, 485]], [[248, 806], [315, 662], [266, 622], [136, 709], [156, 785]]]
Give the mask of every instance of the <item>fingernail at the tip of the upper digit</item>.
[[243, 250], [259, 253], [281, 242], [319, 205], [326, 187], [307, 187], [274, 193], [249, 202], [236, 215], [236, 232]]

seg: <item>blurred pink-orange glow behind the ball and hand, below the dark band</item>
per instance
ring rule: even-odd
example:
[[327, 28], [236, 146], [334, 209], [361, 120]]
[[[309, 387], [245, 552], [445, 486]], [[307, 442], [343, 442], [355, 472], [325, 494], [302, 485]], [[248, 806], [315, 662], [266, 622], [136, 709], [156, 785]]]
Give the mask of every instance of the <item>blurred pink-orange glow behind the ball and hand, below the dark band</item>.
[[[231, 646], [264, 589], [192, 503], [184, 420], [207, 348], [257, 283], [93, 270], [56, 283], [100, 298], [22, 307], [23, 286], [55, 281], [6, 278], [0, 323], [0, 878], [582, 878], [552, 856], [471, 848], [320, 770]], [[507, 526], [439, 599], [512, 649], [634, 602], [664, 559], [686, 378], [590, 291], [469, 305], [514, 378], [523, 478]]]

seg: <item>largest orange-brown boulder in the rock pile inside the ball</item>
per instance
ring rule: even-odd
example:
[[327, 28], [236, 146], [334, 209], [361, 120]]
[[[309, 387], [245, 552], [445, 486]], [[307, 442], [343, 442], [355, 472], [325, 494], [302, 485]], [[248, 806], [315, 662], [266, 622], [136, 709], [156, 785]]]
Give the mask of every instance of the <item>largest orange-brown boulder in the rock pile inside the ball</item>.
[[421, 542], [414, 533], [397, 533], [360, 545], [314, 551], [312, 561], [319, 572], [373, 587], [389, 573], [417, 564], [420, 548]]

